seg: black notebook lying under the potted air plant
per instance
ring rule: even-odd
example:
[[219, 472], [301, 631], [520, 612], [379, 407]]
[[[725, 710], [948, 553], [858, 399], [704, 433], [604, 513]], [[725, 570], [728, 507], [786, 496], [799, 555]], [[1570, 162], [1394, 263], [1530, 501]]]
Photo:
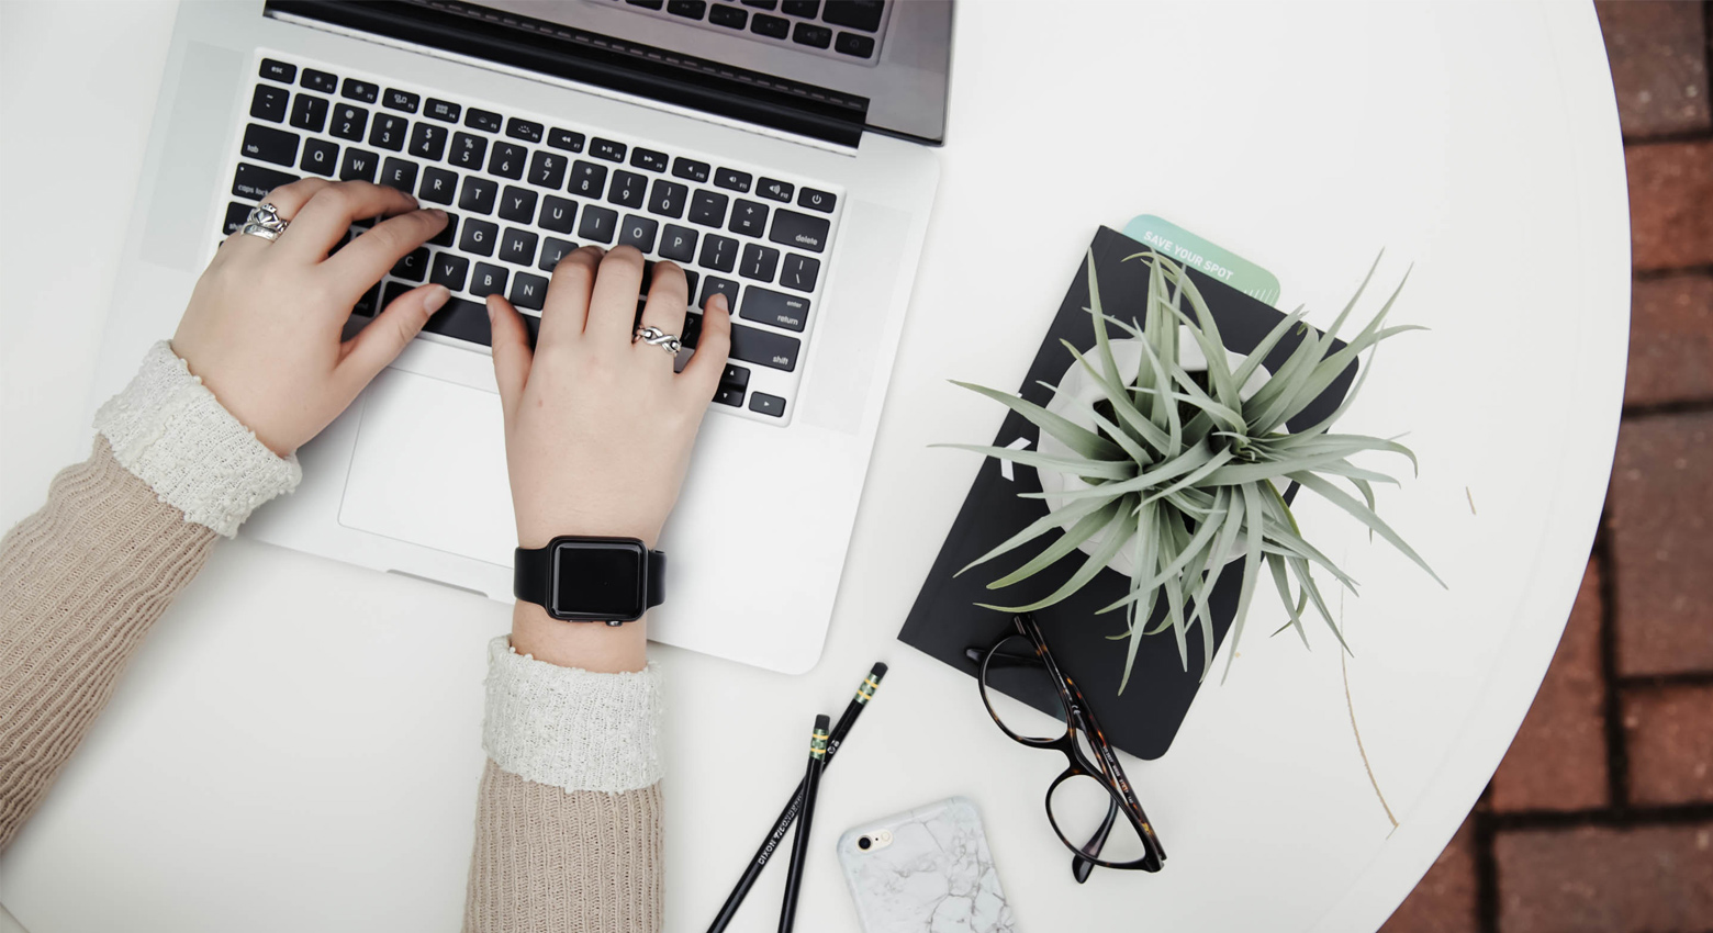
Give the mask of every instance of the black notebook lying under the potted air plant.
[[[1148, 247], [1113, 229], [1100, 228], [1089, 250], [1107, 315], [1124, 322], [1131, 322], [1132, 318], [1136, 322], [1144, 320], [1148, 265], [1139, 260], [1125, 262], [1124, 259], [1141, 253]], [[1285, 318], [1278, 310], [1194, 269], [1189, 270], [1189, 276], [1206, 298], [1208, 308], [1220, 325], [1220, 337], [1233, 353], [1249, 353]], [[1060, 339], [1069, 341], [1079, 353], [1086, 353], [1095, 346], [1095, 325], [1086, 310], [1088, 306], [1088, 269], [1086, 265], [1079, 265], [1071, 277], [1071, 288], [1065, 291], [1064, 301], [1059, 305], [1059, 313], [1053, 317], [1052, 327], [1048, 327], [1047, 337], [1042, 341], [1042, 349], [1035, 354], [1035, 363], [1030, 365], [1030, 373], [1023, 378], [1019, 394], [1024, 399], [1045, 406], [1052, 399], [1052, 392], [1040, 383], [1057, 383], [1071, 363], [1074, 363], [1071, 353], [1060, 344]], [[1122, 337], [1115, 330], [1108, 327], [1108, 332]], [[1300, 344], [1300, 330], [1281, 339], [1266, 358], [1264, 365], [1268, 371], [1276, 371]], [[1343, 346], [1343, 342], [1334, 342], [1334, 348]], [[1352, 363], [1321, 397], [1298, 413], [1286, 426], [1302, 430], [1326, 419], [1338, 409], [1355, 377], [1357, 366]], [[1019, 438], [1026, 438], [1030, 449], [1036, 449], [1036, 428], [1021, 414], [1007, 413], [1006, 421], [999, 428], [999, 437], [994, 438], [994, 445], [1006, 447]], [[975, 454], [946, 452], [946, 455], [973, 457]], [[961, 577], [952, 577], [961, 567], [1047, 514], [1043, 500], [1018, 496], [1018, 493], [1042, 490], [1035, 471], [1016, 466], [1011, 469], [1011, 474], [1012, 478], [1006, 479], [999, 461], [992, 457], [982, 464], [975, 486], [970, 488], [963, 510], [958, 512], [958, 520], [952, 524], [951, 534], [946, 536], [940, 555], [934, 560], [934, 570], [928, 572], [928, 579], [916, 596], [916, 604], [910, 609], [910, 618], [898, 635], [904, 644], [939, 657], [971, 676], [976, 673], [978, 664], [966, 656], [966, 649], [987, 649], [1012, 630], [1009, 613], [983, 609], [976, 603], [997, 606], [1033, 603], [1062, 585], [1084, 556], [1081, 551], [1072, 551], [1071, 556], [1028, 580], [997, 591], [987, 589], [990, 580], [1016, 570], [1045, 548], [1052, 541], [1052, 536], [1047, 536], [975, 567]], [[1292, 493], [1295, 493], [1295, 488], [1285, 493], [1286, 498]], [[1262, 573], [1256, 585], [1269, 587], [1273, 584]], [[1220, 575], [1220, 582], [1215, 585], [1211, 596], [1215, 651], [1218, 651], [1220, 642], [1232, 625], [1240, 587], [1242, 563], [1233, 563]], [[1042, 630], [1047, 633], [1047, 644], [1052, 647], [1065, 674], [1077, 681], [1083, 695], [1095, 707], [1095, 716], [1100, 717], [1100, 724], [1107, 731], [1107, 740], [1141, 758], [1158, 758], [1170, 748], [1172, 738], [1184, 722], [1189, 704], [1196, 698], [1197, 686], [1201, 686], [1203, 635], [1201, 627], [1194, 627], [1189, 632], [1187, 671], [1179, 657], [1177, 640], [1170, 630], [1158, 635], [1144, 635], [1136, 652], [1131, 681], [1124, 693], [1119, 695], [1125, 642], [1112, 640], [1110, 637], [1125, 630], [1124, 611], [1096, 615], [1096, 609], [1113, 603], [1125, 592], [1129, 592], [1129, 580], [1124, 575], [1113, 570], [1101, 570], [1072, 597], [1036, 611], [1035, 618], [1040, 620]], [[1158, 621], [1165, 615], [1163, 603], [1161, 599], [1161, 606], [1151, 621]], [[1252, 616], [1259, 604], [1250, 604]], [[1259, 637], [1264, 637], [1285, 620], [1252, 618], [1252, 621], [1250, 637], [1257, 637], [1257, 632]], [[1216, 680], [1218, 676], [1220, 666], [1216, 664], [1208, 678]], [[1233, 673], [1233, 676], [1240, 676], [1240, 671]], [[973, 690], [975, 686], [971, 686]], [[1050, 690], [1031, 693], [1026, 688], [1018, 688], [1018, 700], [1047, 712], [1055, 710], [1059, 705]]]

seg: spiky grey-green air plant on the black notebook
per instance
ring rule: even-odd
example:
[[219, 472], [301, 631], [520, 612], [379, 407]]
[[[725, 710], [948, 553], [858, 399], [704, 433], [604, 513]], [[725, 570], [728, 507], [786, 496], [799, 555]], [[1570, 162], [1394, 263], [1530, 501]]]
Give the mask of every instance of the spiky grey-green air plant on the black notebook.
[[[1203, 628], [1201, 676], [1206, 676], [1213, 666], [1215, 645], [1209, 596], [1227, 565], [1242, 558], [1242, 589], [1227, 674], [1230, 659], [1237, 656], [1235, 644], [1242, 637], [1244, 618], [1262, 567], [1271, 573], [1285, 603], [1286, 625], [1297, 630], [1304, 644], [1307, 644], [1304, 615], [1307, 606], [1314, 604], [1340, 645], [1348, 651], [1312, 568], [1329, 573], [1352, 592], [1357, 582], [1304, 539], [1290, 503], [1281, 495], [1281, 488], [1290, 483], [1343, 508], [1444, 585], [1427, 562], [1374, 512], [1374, 486], [1398, 484], [1398, 481], [1350, 462], [1353, 454], [1379, 450], [1403, 455], [1413, 467], [1415, 454], [1394, 440], [1331, 433], [1333, 423], [1355, 402], [1372, 366], [1362, 368], [1343, 402], [1324, 421], [1295, 431], [1286, 428], [1286, 421], [1331, 387], [1360, 353], [1400, 332], [1418, 330], [1418, 327], [1384, 327], [1393, 301], [1403, 291], [1403, 281], [1346, 346], [1336, 348], [1334, 336], [1374, 277], [1374, 269], [1324, 334], [1304, 324], [1305, 312], [1298, 308], [1233, 366], [1227, 360], [1220, 327], [1206, 300], [1184, 269], [1153, 250], [1125, 257], [1125, 262], [1131, 260], [1149, 267], [1144, 320], [1124, 322], [1101, 310], [1095, 259], [1089, 253], [1086, 310], [1093, 315], [1095, 348], [1084, 354], [1069, 341], [1064, 342], [1076, 363], [1098, 383], [1100, 401], [1089, 404], [1060, 392], [1055, 385], [1042, 383], [1055, 394], [1055, 404], [1064, 401], [1074, 406], [1093, 428], [1021, 395], [958, 383], [1011, 407], [1040, 428], [1043, 440], [1047, 437], [1057, 440], [1053, 447], [1059, 450], [964, 443], [947, 447], [975, 450], [1043, 474], [1060, 472], [1067, 479], [1079, 479], [1079, 483], [1067, 481], [1067, 488], [1059, 493], [1019, 493], [1052, 500], [1048, 514], [959, 573], [1055, 531], [1062, 534], [1023, 567], [990, 582], [988, 589], [1026, 580], [1077, 548], [1091, 551], [1071, 579], [1043, 599], [1024, 606], [987, 608], [1021, 613], [1060, 603], [1093, 580], [1119, 556], [1120, 548], [1129, 548], [1132, 567], [1129, 591], [1100, 609], [1101, 613], [1122, 609], [1125, 618], [1124, 632], [1113, 635], [1115, 640], [1129, 642], [1119, 690], [1124, 692], [1129, 683], [1141, 637], [1165, 628], [1177, 639], [1185, 671], [1189, 669], [1187, 632], [1196, 625]], [[1189, 306], [1187, 312], [1184, 305]], [[1134, 378], [1125, 378], [1119, 370], [1110, 329], [1141, 344], [1143, 353]], [[1293, 330], [1300, 334], [1302, 342], [1278, 371], [1268, 373], [1262, 360]], [[1180, 363], [1179, 349], [1185, 336], [1206, 356], [1206, 373], [1191, 373]], [[1372, 363], [1372, 353], [1369, 356]], [[1346, 491], [1340, 479], [1348, 483], [1355, 495]], [[1161, 599], [1165, 615], [1149, 627]]]

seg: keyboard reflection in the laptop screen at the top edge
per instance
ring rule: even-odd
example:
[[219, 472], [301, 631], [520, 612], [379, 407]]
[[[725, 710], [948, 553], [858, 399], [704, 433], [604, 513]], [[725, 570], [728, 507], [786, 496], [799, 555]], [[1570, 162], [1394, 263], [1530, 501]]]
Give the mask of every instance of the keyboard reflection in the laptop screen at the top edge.
[[886, 0], [622, 0], [625, 7], [714, 33], [738, 34], [797, 51], [874, 65], [886, 29]]

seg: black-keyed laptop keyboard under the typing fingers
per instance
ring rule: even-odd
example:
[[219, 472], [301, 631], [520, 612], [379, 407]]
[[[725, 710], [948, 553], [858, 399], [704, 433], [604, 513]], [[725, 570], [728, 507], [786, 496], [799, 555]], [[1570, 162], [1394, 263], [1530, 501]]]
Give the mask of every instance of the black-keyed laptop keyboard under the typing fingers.
[[731, 361], [714, 409], [790, 421], [833, 253], [836, 187], [279, 55], [259, 56], [248, 101], [226, 235], [269, 190], [303, 176], [389, 185], [451, 217], [353, 313], [439, 282], [452, 298], [423, 339], [488, 346], [483, 298], [493, 293], [510, 298], [533, 339], [565, 253], [630, 245], [651, 269], [661, 259], [683, 267], [694, 305], [685, 348], [701, 334], [699, 308], [726, 296]]

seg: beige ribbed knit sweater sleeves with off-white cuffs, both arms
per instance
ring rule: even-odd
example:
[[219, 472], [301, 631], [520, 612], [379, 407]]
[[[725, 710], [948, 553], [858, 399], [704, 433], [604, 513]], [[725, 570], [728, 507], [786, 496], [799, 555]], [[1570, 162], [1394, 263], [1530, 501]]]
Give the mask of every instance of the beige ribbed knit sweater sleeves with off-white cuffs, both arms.
[[[0, 539], [0, 851], [221, 534], [296, 484], [158, 344], [101, 437]], [[471, 645], [475, 649], [475, 645]], [[661, 926], [660, 674], [488, 645], [486, 770], [464, 930]]]

